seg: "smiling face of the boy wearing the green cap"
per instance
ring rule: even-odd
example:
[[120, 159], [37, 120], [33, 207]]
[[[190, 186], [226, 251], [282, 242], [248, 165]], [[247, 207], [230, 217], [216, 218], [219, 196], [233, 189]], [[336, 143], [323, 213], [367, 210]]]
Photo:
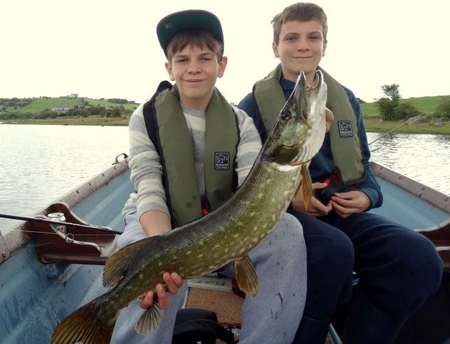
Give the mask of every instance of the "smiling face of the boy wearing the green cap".
[[179, 102], [192, 109], [206, 111], [217, 77], [224, 75], [226, 57], [218, 63], [216, 55], [206, 46], [187, 45], [174, 53], [166, 63], [170, 80], [177, 82]]

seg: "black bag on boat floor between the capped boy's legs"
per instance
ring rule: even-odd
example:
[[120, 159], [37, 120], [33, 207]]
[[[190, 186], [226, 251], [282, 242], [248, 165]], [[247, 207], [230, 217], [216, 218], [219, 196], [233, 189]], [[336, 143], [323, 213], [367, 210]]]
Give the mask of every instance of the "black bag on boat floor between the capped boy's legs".
[[216, 339], [234, 343], [234, 333], [219, 325], [216, 313], [199, 308], [178, 311], [172, 344], [215, 344]]

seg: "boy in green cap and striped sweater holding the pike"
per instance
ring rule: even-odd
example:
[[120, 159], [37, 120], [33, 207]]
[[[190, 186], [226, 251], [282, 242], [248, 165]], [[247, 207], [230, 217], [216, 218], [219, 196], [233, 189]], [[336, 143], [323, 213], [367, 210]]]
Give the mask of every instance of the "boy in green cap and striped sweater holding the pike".
[[[120, 248], [214, 211], [244, 181], [261, 149], [252, 120], [214, 87], [227, 62], [219, 19], [206, 11], [177, 12], [159, 22], [157, 36], [175, 85], [162, 82], [130, 119], [130, 178], [136, 192], [122, 212]], [[290, 344], [306, 292], [305, 243], [298, 220], [284, 215], [250, 257], [259, 291], [244, 301], [240, 343]], [[233, 275], [231, 264], [224, 273]], [[155, 332], [140, 335], [135, 330], [141, 308], [153, 301], [149, 292], [127, 307], [116, 343], [171, 343], [187, 283], [177, 272], [163, 278], [169, 295], [157, 286], [163, 311]]]

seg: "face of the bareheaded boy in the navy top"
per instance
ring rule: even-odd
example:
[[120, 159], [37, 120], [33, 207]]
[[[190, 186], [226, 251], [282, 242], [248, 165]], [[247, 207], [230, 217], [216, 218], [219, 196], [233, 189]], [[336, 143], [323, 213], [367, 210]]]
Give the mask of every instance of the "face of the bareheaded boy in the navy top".
[[273, 42], [272, 47], [275, 57], [280, 58], [283, 77], [295, 82], [303, 70], [309, 85], [325, 56], [327, 41], [320, 21], [287, 21], [281, 26], [278, 43]]

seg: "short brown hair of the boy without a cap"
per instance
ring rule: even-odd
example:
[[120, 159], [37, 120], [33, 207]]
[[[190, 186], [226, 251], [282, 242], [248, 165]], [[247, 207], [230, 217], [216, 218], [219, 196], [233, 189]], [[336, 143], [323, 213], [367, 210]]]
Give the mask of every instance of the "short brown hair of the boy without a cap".
[[310, 2], [298, 2], [286, 7], [280, 14], [273, 17], [273, 41], [278, 44], [281, 26], [287, 21], [320, 21], [323, 28], [323, 40], [327, 40], [328, 24], [327, 15], [322, 7]]

